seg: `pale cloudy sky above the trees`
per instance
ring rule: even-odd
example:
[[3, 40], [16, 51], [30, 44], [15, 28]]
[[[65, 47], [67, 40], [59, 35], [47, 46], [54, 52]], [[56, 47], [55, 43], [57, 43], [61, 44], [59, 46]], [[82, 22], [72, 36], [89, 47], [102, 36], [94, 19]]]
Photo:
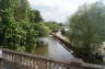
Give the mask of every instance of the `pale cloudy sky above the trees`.
[[[32, 9], [39, 10], [45, 21], [66, 22], [79, 7], [100, 0], [28, 0]], [[105, 0], [102, 0], [105, 1]]]

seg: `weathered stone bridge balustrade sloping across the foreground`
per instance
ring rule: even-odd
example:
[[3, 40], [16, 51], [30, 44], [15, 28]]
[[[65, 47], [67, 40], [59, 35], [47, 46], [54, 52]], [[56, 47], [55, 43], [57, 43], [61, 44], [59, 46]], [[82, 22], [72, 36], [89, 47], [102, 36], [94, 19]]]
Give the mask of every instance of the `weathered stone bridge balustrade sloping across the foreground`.
[[[1, 69], [105, 69], [104, 66], [79, 62], [61, 61], [52, 58], [2, 49], [3, 68]], [[10, 65], [10, 66], [9, 66]]]

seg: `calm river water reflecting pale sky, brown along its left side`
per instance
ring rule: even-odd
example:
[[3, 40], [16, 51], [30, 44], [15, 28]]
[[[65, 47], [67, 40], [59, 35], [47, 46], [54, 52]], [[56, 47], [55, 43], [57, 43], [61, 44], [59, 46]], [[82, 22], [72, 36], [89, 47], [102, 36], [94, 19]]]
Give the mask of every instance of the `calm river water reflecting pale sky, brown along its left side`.
[[36, 55], [51, 57], [54, 59], [70, 60], [73, 56], [52, 37], [44, 38], [48, 43], [46, 46], [39, 46], [35, 49]]

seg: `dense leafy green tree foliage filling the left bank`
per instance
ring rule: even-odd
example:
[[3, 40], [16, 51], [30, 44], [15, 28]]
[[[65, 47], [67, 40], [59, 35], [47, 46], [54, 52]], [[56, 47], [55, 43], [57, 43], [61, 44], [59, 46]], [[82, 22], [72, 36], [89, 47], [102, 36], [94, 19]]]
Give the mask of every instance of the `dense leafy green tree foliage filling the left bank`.
[[33, 53], [39, 33], [46, 32], [39, 11], [32, 10], [27, 0], [1, 0], [0, 19], [0, 45], [10, 49]]

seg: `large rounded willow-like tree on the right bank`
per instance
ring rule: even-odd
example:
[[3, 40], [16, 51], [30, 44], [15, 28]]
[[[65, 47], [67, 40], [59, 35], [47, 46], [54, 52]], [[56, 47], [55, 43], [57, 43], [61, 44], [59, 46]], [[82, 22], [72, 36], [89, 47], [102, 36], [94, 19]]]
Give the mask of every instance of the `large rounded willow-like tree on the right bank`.
[[96, 2], [83, 5], [70, 20], [69, 38], [84, 56], [85, 61], [93, 61], [90, 57], [96, 48], [93, 44], [102, 44], [105, 41], [105, 5]]

